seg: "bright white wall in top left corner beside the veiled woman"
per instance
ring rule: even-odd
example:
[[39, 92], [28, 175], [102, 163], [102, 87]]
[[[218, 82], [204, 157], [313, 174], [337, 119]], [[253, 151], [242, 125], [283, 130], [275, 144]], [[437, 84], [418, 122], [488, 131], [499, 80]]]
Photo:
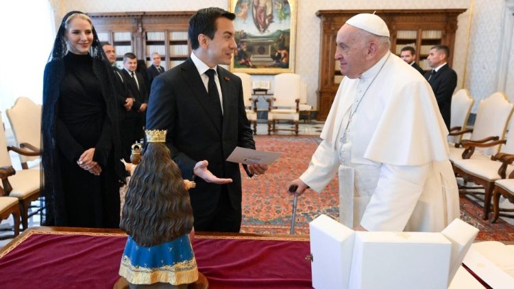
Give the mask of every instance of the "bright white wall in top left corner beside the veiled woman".
[[[27, 9], [30, 7], [30, 9]], [[2, 42], [0, 55], [0, 110], [10, 127], [5, 109], [18, 97], [42, 103], [42, 71], [55, 35], [48, 1], [3, 1], [0, 4]]]

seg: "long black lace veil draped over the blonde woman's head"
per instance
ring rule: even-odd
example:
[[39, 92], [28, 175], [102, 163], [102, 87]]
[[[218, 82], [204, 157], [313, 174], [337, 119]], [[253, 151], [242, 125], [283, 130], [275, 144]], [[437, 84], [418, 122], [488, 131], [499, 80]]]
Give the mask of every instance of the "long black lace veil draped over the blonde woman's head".
[[[64, 55], [68, 53], [66, 46], [66, 20], [73, 14], [85, 14], [79, 11], [68, 12], [62, 18], [60, 27], [58, 29], [56, 40], [53, 42], [53, 48], [50, 53], [47, 66], [45, 66], [45, 73], [43, 76], [43, 95], [42, 95], [42, 119], [41, 119], [41, 147], [42, 147], [42, 170], [41, 170], [41, 196], [44, 197], [41, 203], [41, 225], [62, 225], [66, 223], [66, 216], [64, 213], [64, 192], [60, 184], [60, 167], [56, 156], [56, 140], [55, 136], [55, 117], [56, 117], [56, 103], [60, 93], [60, 82], [64, 77]], [[112, 81], [112, 73], [108, 73], [108, 60], [98, 34], [91, 23], [93, 30], [93, 43], [91, 45], [89, 54], [93, 58], [93, 71], [99, 79], [99, 86], [102, 88], [103, 95], [106, 99], [109, 118], [112, 121], [114, 131], [114, 139], [119, 139], [119, 131], [117, 131], [117, 112], [114, 103], [114, 82]], [[114, 142], [114, 151], [118, 151], [117, 143]], [[116, 158], [115, 154], [115, 158]], [[119, 158], [117, 158], [119, 159]], [[121, 164], [121, 162], [120, 162]], [[124, 170], [120, 167], [114, 166], [119, 179], [123, 179]]]

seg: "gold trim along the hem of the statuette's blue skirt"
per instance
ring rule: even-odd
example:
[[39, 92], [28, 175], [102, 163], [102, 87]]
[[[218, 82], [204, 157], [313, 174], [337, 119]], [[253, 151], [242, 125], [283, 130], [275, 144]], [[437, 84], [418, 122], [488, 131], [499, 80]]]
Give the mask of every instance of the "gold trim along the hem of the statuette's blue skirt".
[[126, 255], [121, 259], [119, 275], [132, 284], [154, 284], [157, 282], [171, 285], [190, 284], [198, 279], [196, 259], [178, 262], [159, 268], [134, 266]]

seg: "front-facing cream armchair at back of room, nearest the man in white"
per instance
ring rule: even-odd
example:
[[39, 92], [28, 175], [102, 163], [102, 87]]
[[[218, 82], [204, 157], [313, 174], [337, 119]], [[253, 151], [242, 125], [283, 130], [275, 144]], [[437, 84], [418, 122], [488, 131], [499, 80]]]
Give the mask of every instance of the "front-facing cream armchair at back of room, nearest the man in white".
[[273, 97], [267, 99], [268, 108], [268, 134], [276, 132], [276, 121], [292, 121], [294, 129], [280, 129], [295, 131], [298, 135], [300, 76], [295, 73], [281, 73], [275, 75]]

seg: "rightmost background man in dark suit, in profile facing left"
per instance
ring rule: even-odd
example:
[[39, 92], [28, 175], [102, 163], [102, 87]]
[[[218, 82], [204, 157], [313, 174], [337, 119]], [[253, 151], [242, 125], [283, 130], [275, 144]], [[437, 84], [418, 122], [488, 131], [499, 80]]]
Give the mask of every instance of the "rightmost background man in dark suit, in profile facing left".
[[425, 78], [434, 91], [439, 111], [448, 130], [450, 130], [452, 114], [452, 95], [457, 86], [457, 74], [447, 63], [449, 55], [450, 49], [446, 45], [432, 47], [426, 58], [428, 66], [432, 67], [432, 71], [425, 74]]

